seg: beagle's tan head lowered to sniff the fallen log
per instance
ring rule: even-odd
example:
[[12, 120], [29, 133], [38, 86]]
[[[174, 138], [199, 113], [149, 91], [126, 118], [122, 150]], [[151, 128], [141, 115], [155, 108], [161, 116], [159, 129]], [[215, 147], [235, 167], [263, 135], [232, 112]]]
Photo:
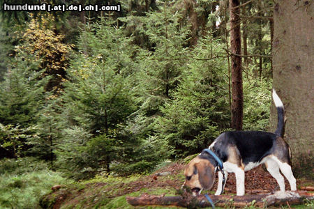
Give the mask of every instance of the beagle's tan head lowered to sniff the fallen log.
[[215, 167], [209, 160], [197, 156], [191, 160], [185, 171], [186, 180], [184, 185], [189, 187], [193, 195], [200, 194], [202, 189], [211, 189], [215, 182]]

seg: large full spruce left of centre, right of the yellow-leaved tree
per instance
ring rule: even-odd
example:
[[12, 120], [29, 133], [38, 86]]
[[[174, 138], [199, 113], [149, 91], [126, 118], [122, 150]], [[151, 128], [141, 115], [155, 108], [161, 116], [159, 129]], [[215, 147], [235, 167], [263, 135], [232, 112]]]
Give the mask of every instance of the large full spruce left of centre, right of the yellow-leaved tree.
[[[136, 108], [130, 85], [135, 48], [130, 42], [107, 18], [82, 31], [80, 53], [71, 63], [61, 97], [62, 117], [63, 123], [68, 122], [66, 130], [78, 127], [90, 137], [75, 141], [68, 148], [61, 142], [63, 152], [57, 150], [63, 166], [76, 167], [77, 175], [92, 176], [99, 170], [110, 173], [110, 164], [117, 159], [110, 150], [128, 145], [129, 139], [122, 137], [122, 132]], [[63, 136], [66, 144], [72, 140], [66, 133]], [[80, 162], [62, 160], [77, 150]]]

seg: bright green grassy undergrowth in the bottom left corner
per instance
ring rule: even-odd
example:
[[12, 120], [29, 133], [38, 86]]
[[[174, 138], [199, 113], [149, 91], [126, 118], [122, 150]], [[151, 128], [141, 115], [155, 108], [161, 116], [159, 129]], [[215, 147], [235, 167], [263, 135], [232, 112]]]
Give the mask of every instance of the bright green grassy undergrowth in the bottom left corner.
[[61, 173], [47, 169], [45, 162], [1, 160], [0, 162], [0, 208], [40, 208], [40, 197], [51, 187], [72, 183]]

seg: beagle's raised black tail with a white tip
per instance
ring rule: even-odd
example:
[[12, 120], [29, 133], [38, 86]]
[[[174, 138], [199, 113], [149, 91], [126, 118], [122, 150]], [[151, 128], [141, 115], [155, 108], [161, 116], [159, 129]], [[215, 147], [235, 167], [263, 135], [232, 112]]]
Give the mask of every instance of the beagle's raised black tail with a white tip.
[[279, 98], [275, 89], [273, 89], [273, 100], [278, 113], [278, 124], [275, 134], [278, 137], [283, 137], [283, 134], [285, 133], [285, 109], [283, 107], [283, 102], [281, 102], [281, 98]]

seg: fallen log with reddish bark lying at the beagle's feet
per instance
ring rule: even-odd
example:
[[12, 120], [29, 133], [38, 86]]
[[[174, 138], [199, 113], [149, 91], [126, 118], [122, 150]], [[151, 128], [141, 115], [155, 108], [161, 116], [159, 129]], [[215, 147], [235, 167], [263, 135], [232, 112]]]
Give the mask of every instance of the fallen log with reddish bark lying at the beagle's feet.
[[[214, 201], [215, 206], [280, 206], [289, 203], [301, 204], [305, 199], [314, 199], [314, 194], [307, 193], [306, 191], [297, 192], [276, 192], [275, 194], [253, 194], [245, 196], [230, 196], [230, 195], [209, 195]], [[128, 196], [126, 200], [132, 206], [177, 206], [184, 208], [206, 208], [211, 207], [204, 195], [197, 197], [193, 196], [151, 196], [142, 194], [140, 197]]]

